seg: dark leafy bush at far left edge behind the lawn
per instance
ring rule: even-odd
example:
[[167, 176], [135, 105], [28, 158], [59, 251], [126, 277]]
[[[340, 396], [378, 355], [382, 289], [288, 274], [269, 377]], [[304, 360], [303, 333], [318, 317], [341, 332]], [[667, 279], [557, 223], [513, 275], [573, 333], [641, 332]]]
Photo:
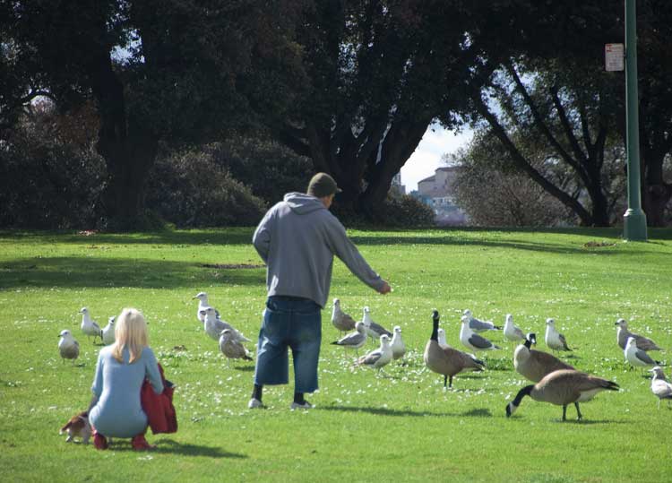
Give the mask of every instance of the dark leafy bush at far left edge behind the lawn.
[[47, 103], [4, 131], [0, 141], [0, 226], [90, 228], [105, 162], [95, 151], [97, 123], [90, 109], [56, 114]]

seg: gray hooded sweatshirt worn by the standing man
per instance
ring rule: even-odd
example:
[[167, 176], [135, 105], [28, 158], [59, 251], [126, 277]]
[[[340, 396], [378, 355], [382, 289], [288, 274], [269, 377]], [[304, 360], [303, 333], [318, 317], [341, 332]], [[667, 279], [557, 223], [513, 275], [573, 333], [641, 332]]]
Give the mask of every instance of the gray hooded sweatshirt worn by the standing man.
[[309, 194], [285, 194], [283, 201], [266, 212], [252, 243], [267, 265], [269, 297], [310, 298], [324, 307], [334, 254], [366, 285], [383, 288], [383, 279], [359, 254], [340, 221]]

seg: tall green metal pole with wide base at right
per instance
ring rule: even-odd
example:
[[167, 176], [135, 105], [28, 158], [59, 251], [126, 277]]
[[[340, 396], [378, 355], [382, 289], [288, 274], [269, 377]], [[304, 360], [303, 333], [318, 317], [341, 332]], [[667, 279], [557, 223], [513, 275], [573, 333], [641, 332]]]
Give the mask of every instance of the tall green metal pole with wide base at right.
[[628, 209], [623, 216], [623, 237], [646, 241], [646, 215], [640, 185], [639, 95], [637, 93], [637, 14], [635, 0], [625, 0], [625, 131], [627, 134]]

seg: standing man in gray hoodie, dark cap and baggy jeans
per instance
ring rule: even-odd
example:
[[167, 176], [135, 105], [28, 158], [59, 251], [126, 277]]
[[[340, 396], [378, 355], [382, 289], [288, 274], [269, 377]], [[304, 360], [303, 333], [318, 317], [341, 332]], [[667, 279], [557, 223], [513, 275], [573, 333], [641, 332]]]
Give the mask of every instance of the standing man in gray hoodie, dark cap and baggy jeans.
[[321, 309], [329, 297], [335, 254], [366, 285], [381, 294], [392, 289], [359, 254], [329, 208], [340, 189], [332, 177], [316, 174], [306, 194], [288, 193], [254, 231], [252, 243], [266, 263], [268, 299], [257, 344], [254, 391], [249, 408], [262, 407], [264, 384], [288, 384], [288, 347], [294, 359], [291, 409], [313, 405], [304, 394], [317, 389], [322, 342]]

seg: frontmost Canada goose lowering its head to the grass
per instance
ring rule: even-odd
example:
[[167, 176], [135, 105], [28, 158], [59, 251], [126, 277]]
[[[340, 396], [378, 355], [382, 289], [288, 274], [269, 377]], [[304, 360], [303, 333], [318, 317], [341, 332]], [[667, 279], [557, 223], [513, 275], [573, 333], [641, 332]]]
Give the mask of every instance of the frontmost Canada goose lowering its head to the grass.
[[515, 399], [506, 405], [506, 417], [511, 417], [518, 409], [523, 397], [530, 396], [534, 401], [562, 406], [563, 421], [566, 420], [567, 405], [573, 403], [577, 419], [581, 419], [579, 402], [590, 401], [595, 394], [604, 390], [618, 391], [618, 384], [579, 371], [561, 369], [546, 375], [537, 384], [523, 387]]

